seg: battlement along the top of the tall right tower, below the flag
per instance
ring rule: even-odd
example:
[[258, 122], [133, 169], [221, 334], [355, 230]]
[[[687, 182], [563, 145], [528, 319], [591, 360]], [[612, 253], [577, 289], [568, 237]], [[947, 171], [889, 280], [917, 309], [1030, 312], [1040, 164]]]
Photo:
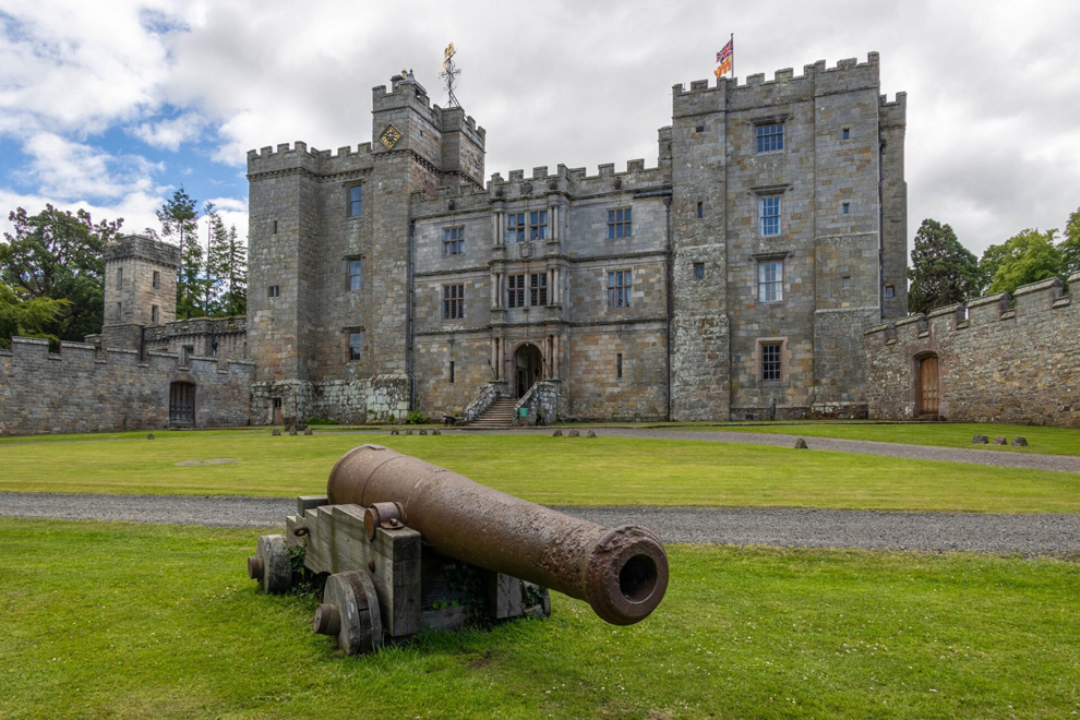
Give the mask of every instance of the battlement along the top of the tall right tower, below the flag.
[[765, 73], [747, 75], [743, 83], [737, 77], [719, 77], [710, 85], [708, 80], [696, 80], [689, 85], [679, 83], [672, 86], [673, 117], [686, 117], [701, 112], [747, 109], [763, 105], [777, 105], [809, 100], [821, 95], [840, 92], [877, 88], [879, 79], [879, 56], [869, 52], [866, 62], [848, 58], [828, 67], [825, 60], [803, 65], [803, 74], [784, 68], [766, 80]]

